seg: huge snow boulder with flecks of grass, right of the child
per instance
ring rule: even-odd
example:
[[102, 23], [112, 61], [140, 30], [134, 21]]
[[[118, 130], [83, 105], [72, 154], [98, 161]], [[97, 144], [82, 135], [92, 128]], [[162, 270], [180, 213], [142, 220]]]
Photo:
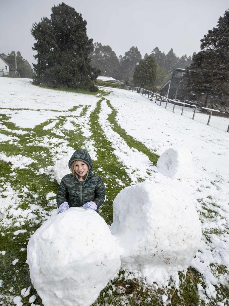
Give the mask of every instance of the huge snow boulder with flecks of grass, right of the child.
[[179, 283], [200, 244], [201, 222], [191, 199], [176, 187], [144, 182], [124, 188], [113, 203], [111, 233], [121, 262], [149, 284]]

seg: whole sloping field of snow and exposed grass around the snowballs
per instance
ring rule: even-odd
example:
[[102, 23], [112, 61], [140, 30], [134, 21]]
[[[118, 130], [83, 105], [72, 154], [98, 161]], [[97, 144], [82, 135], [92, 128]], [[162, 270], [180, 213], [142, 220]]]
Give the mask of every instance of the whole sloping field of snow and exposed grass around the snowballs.
[[[191, 120], [190, 108], [181, 116], [180, 106], [173, 113], [171, 104], [165, 109], [165, 103], [159, 106], [154, 100], [116, 88], [86, 95], [39, 88], [29, 79], [10, 78], [0, 78], [0, 88], [0, 219], [4, 242], [0, 247], [4, 264], [0, 270], [0, 305], [42, 305], [28, 276], [26, 245], [33, 232], [56, 213], [58, 184], [53, 165], [69, 150], [80, 147], [89, 151], [95, 172], [106, 184], [107, 198], [99, 213], [108, 224], [118, 192], [141, 181], [169, 184], [186, 192], [202, 223], [201, 245], [180, 286], [177, 280], [168, 282], [159, 277], [160, 284], [148, 286], [140, 271], [123, 267], [93, 305], [152, 305], [153, 299], [155, 305], [229, 305], [228, 118], [212, 116], [207, 126], [206, 114], [197, 112]], [[130, 136], [134, 145], [130, 145]], [[169, 178], [158, 171], [150, 153], [160, 156], [169, 148], [191, 151], [192, 178]], [[125, 284], [131, 287], [128, 282], [136, 285], [136, 280], [139, 290], [132, 288], [128, 293]], [[183, 283], [194, 288], [196, 301], [185, 296]], [[158, 289], [158, 285], [163, 288]]]

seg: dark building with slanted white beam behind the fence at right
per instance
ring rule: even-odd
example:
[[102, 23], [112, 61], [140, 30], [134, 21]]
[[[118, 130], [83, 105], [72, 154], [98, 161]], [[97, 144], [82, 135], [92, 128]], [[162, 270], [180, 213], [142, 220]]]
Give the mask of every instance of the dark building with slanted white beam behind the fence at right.
[[172, 71], [172, 77], [160, 88], [160, 95], [169, 99], [177, 99], [179, 93], [179, 85], [182, 76], [185, 74], [185, 69], [175, 68]]

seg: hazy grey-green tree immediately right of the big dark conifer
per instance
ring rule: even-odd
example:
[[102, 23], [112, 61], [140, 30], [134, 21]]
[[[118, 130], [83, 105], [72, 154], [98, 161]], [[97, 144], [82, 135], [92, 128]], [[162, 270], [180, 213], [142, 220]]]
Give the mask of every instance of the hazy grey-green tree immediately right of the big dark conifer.
[[117, 55], [110, 46], [102, 46], [101, 43], [94, 43], [94, 50], [90, 54], [91, 65], [101, 70], [101, 75], [111, 76], [115, 79], [120, 77], [120, 65]]

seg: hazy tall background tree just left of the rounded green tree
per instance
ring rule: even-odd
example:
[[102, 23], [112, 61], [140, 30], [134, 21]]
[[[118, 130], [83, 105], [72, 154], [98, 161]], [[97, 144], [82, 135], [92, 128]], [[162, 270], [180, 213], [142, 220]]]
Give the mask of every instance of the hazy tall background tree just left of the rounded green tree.
[[141, 53], [137, 47], [131, 47], [125, 52], [121, 64], [121, 79], [129, 80], [133, 77], [134, 69], [141, 59]]

